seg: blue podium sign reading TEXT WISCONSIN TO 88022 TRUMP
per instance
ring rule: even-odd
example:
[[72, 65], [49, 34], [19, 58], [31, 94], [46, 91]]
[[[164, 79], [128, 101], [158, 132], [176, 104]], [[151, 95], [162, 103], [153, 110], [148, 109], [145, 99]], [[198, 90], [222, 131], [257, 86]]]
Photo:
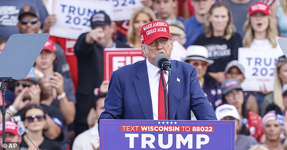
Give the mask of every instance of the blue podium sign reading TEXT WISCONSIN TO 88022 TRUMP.
[[234, 150], [234, 121], [100, 120], [99, 150]]

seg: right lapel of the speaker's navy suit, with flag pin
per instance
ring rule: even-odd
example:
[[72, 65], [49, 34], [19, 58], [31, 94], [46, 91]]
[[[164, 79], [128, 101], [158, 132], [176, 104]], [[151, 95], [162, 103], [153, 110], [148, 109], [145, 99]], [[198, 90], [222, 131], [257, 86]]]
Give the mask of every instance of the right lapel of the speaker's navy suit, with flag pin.
[[180, 81], [179, 71], [171, 61], [171, 75], [168, 81], [168, 116], [170, 120], [175, 119], [181, 82], [182, 81]]

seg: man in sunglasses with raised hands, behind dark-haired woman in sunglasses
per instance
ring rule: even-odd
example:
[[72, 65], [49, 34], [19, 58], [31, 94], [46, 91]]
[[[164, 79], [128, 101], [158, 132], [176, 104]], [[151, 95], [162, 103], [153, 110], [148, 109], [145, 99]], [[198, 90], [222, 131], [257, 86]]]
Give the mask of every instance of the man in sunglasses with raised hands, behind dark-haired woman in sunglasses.
[[[19, 123], [21, 122], [20, 114], [23, 108], [29, 104], [40, 105], [41, 90], [39, 84], [43, 76], [44, 74], [40, 70], [32, 67], [23, 80], [15, 81], [14, 94], [16, 97], [7, 108], [9, 113], [6, 113], [6, 120], [15, 120], [19, 125], [23, 125]], [[48, 114], [46, 115], [48, 128], [45, 130], [44, 136], [50, 140], [54, 140], [61, 134], [62, 115], [58, 109], [48, 106], [43, 107]], [[11, 119], [10, 116], [13, 116], [13, 119]], [[2, 115], [0, 115], [0, 121], [2, 121], [1, 117]], [[60, 122], [60, 124], [57, 124], [58, 122]], [[21, 128], [24, 129], [23, 126]]]

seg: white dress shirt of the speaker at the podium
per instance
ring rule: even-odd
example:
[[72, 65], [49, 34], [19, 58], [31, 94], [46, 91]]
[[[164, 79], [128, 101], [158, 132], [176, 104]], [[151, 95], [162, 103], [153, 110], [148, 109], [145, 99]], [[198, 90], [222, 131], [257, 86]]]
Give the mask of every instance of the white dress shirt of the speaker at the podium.
[[[158, 120], [158, 83], [159, 83], [159, 68], [154, 66], [146, 59], [146, 68], [147, 68], [147, 75], [148, 75], [148, 82], [149, 82], [149, 89], [150, 89], [150, 96], [151, 96], [151, 103], [152, 103], [152, 112], [153, 112], [153, 120]], [[164, 73], [165, 84], [167, 83], [168, 79], [168, 72], [165, 71]], [[168, 85], [166, 87], [168, 91]], [[167, 96], [168, 97], [168, 96]]]

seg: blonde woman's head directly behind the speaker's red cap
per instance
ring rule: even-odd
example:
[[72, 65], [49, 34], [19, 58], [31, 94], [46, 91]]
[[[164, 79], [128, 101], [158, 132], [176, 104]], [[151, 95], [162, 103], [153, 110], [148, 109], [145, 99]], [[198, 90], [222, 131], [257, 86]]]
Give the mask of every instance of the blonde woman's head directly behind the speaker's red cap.
[[140, 29], [147, 22], [155, 20], [155, 14], [148, 7], [137, 8], [131, 15], [127, 30], [127, 42], [130, 47], [140, 47]]

